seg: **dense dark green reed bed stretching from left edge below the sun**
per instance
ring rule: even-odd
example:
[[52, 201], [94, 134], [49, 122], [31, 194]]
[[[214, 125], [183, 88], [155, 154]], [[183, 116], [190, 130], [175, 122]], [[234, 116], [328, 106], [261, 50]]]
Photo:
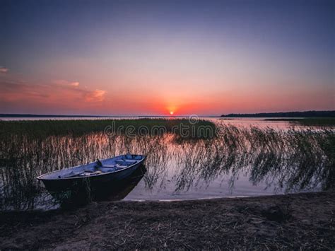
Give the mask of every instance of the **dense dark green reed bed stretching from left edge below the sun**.
[[[202, 129], [201, 129], [202, 128]], [[83, 119], [83, 120], [20, 120], [0, 121], [0, 139], [5, 136], [28, 136], [45, 138], [47, 136], [73, 135], [81, 136], [94, 132], [116, 134], [157, 135], [173, 133], [177, 136], [189, 134], [194, 129], [195, 138], [206, 138], [204, 130], [211, 129], [215, 132], [213, 122], [198, 120], [195, 124], [189, 119]], [[189, 130], [189, 132], [187, 132]], [[186, 136], [186, 138], [189, 138]]]

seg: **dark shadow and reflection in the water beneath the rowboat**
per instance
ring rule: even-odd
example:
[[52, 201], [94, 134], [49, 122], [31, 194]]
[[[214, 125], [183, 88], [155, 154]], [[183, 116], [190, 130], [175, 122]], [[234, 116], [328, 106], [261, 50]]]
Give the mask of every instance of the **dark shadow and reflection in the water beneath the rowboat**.
[[140, 165], [134, 173], [120, 181], [92, 185], [88, 180], [83, 180], [74, 188], [50, 194], [64, 209], [84, 206], [94, 201], [121, 200], [136, 187], [145, 173], [145, 165]]

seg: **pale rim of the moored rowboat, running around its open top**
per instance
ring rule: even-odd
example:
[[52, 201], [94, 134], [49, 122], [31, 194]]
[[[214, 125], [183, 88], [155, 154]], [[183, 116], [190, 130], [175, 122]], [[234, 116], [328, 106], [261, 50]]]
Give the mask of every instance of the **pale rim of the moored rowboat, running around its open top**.
[[[69, 169], [72, 169], [72, 168], [79, 168], [79, 167], [83, 166], [83, 165], [76, 165], [76, 166], [73, 166], [73, 167], [70, 167], [70, 168], [63, 168], [63, 169], [61, 169], [61, 170], [55, 170], [55, 171], [52, 171], [52, 172], [50, 172], [50, 173], [45, 173], [44, 175], [40, 175], [40, 176], [36, 177], [36, 179], [37, 179], [37, 180], [42, 180], [42, 181], [43, 181], [43, 180], [47, 180], [47, 181], [49, 181], [49, 180], [75, 180], [75, 179], [87, 179], [87, 178], [90, 178], [90, 177], [100, 177], [100, 176], [102, 176], [102, 175], [110, 175], [110, 174], [112, 174], [112, 173], [122, 172], [122, 171], [124, 171], [124, 170], [129, 169], [129, 168], [132, 168], [134, 165], [138, 165], [139, 163], [143, 163], [143, 161], [146, 159], [146, 156], [141, 155], [141, 154], [131, 154], [131, 155], [141, 156], [142, 158], [141, 158], [141, 160], [139, 160], [139, 162], [134, 163], [134, 164], [132, 164], [132, 165], [129, 165], [129, 166], [127, 166], [126, 168], [122, 168], [122, 169], [119, 169], [119, 170], [115, 170], [114, 172], [109, 172], [109, 173], [99, 173], [98, 175], [83, 176], [83, 177], [63, 177], [63, 178], [58, 178], [58, 179], [55, 179], [55, 178], [54, 178], [54, 179], [43, 178], [43, 176], [45, 176], [45, 175], [49, 175], [49, 174], [52, 174], [52, 173], [57, 173], [57, 172], [59, 172], [59, 171], [61, 171], [61, 170], [69, 170]], [[115, 157], [112, 157], [112, 158], [117, 158], [117, 157], [122, 157], [122, 156], [127, 156], [127, 154], [123, 154], [123, 155], [115, 156]], [[112, 158], [107, 158], [107, 160], [112, 159]], [[102, 161], [103, 161], [103, 160], [102, 160]], [[96, 163], [96, 162], [98, 162], [98, 161], [91, 162], [91, 163], [88, 163], [88, 164], [86, 164], [86, 165], [90, 165], [90, 164], [93, 164], [93, 163]]]

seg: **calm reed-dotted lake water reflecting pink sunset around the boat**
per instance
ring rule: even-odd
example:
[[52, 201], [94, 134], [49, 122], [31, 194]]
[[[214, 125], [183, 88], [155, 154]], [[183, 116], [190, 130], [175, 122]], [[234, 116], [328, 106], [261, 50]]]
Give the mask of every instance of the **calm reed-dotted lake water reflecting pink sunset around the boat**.
[[332, 186], [329, 142], [334, 141], [334, 129], [261, 119], [207, 119], [219, 128], [214, 139], [104, 133], [13, 139], [10, 146], [1, 145], [1, 209], [55, 208], [35, 177], [124, 153], [146, 155], [146, 165], [114, 199], [249, 197]]

